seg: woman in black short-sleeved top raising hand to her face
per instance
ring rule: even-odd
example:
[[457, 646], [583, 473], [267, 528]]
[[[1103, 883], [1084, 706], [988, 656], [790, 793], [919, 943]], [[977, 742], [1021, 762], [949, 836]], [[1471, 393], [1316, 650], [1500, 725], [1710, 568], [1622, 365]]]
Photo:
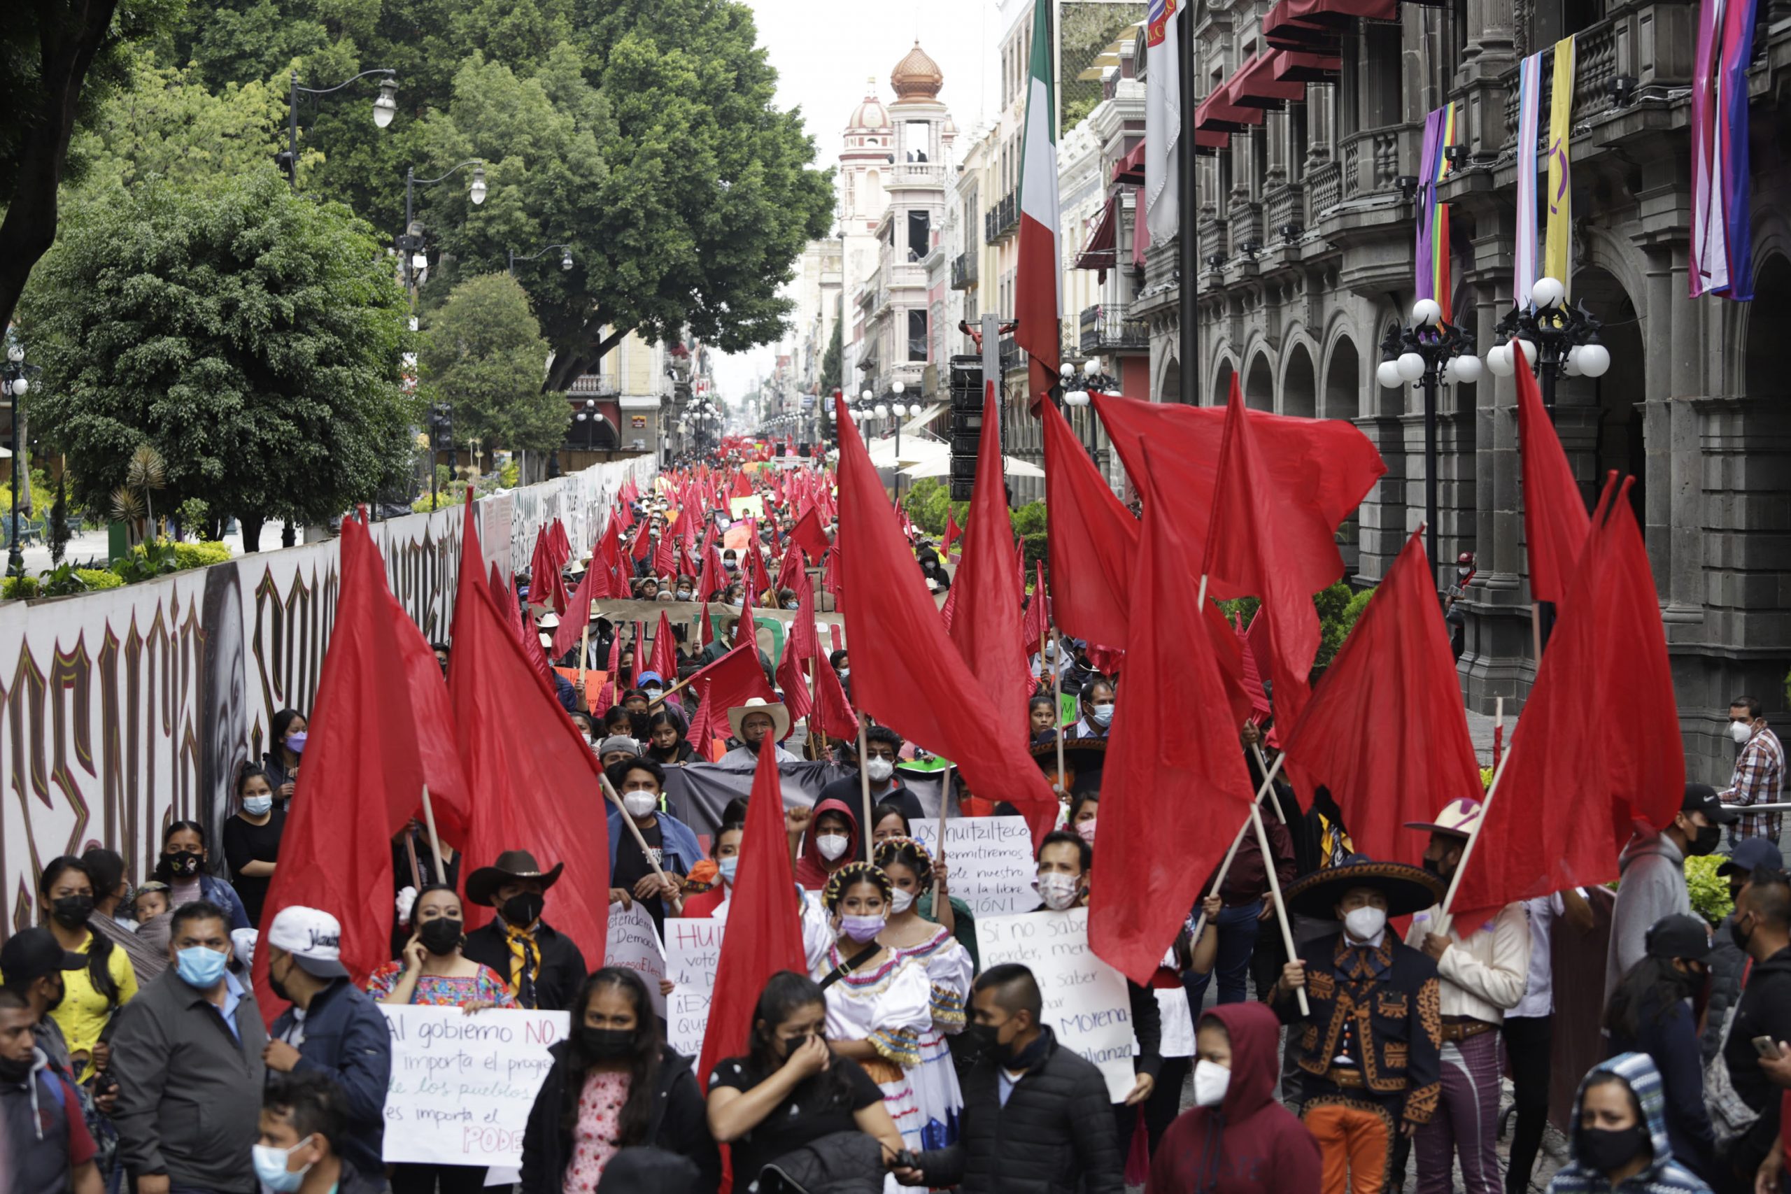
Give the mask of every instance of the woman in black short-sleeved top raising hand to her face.
[[734, 1194], [770, 1164], [826, 1165], [836, 1180], [874, 1183], [903, 1149], [883, 1090], [829, 1049], [827, 1019], [820, 986], [793, 970], [774, 974], [752, 1013], [750, 1051], [709, 1076], [709, 1131], [733, 1149]]

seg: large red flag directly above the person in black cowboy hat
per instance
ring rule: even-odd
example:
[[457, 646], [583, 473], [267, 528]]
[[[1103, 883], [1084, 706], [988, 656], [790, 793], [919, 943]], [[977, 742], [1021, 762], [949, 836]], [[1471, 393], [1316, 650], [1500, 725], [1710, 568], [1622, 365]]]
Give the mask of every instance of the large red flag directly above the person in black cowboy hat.
[[[548, 897], [546, 918], [596, 970], [609, 934], [609, 832], [596, 755], [548, 680], [505, 634], [503, 610], [478, 584], [480, 571], [478, 530], [467, 503], [448, 677], [460, 759], [478, 793], [464, 868], [471, 874], [489, 866], [503, 850], [530, 850], [544, 870], [566, 863]], [[519, 734], [518, 727], [528, 732]], [[387, 841], [380, 845], [390, 854]], [[383, 895], [390, 899], [390, 883]], [[466, 906], [467, 929], [489, 918], [489, 908]], [[390, 922], [380, 917], [371, 924], [383, 933]]]

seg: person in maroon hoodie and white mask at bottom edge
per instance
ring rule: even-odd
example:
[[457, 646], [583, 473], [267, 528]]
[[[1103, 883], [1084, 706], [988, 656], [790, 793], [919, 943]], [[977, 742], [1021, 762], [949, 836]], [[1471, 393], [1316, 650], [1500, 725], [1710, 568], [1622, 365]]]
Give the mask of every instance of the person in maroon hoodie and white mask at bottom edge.
[[1275, 1103], [1281, 1020], [1259, 1002], [1200, 1017], [1195, 1103], [1150, 1162], [1144, 1194], [1284, 1194], [1316, 1190], [1318, 1142]]

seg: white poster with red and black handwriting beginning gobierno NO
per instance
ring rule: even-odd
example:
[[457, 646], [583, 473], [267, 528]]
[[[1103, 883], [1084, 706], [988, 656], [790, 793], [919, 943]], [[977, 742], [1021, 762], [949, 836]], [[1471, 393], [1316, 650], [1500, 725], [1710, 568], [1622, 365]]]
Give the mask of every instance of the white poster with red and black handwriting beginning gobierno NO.
[[478, 1011], [380, 1004], [392, 1036], [385, 1160], [523, 1164], [523, 1128], [566, 1038], [564, 1011]]

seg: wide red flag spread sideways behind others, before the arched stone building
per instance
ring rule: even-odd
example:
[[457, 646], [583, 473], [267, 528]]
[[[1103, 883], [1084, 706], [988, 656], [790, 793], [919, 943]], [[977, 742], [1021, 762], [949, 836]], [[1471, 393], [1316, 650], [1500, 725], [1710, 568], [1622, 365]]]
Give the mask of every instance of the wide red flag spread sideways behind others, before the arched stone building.
[[[1175, 485], [1164, 499], [1187, 532], [1187, 541], [1205, 542], [1207, 519], [1216, 503], [1227, 408], [1141, 403], [1112, 394], [1094, 394], [1093, 399], [1134, 485], [1143, 490], [1141, 444], [1146, 439], [1162, 449], [1159, 460], [1175, 462]], [[1341, 419], [1298, 419], [1259, 410], [1245, 412], [1245, 419], [1261, 446], [1264, 473], [1259, 485], [1275, 510], [1257, 533], [1266, 535], [1266, 528], [1273, 526], [1281, 564], [1293, 569], [1290, 584], [1307, 594], [1318, 593], [1343, 575], [1336, 528], [1386, 473], [1386, 464], [1368, 437]], [[1252, 593], [1218, 573], [1207, 587], [1207, 596], [1218, 600]]]

